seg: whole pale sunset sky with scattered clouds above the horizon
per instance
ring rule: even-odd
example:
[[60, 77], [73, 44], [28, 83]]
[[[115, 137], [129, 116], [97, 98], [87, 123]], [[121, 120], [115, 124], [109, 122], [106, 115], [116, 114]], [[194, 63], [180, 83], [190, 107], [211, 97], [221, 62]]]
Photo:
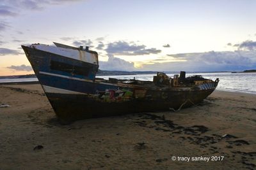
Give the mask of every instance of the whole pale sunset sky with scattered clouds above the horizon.
[[255, 0], [0, 0], [0, 76], [33, 74], [20, 45], [89, 46], [118, 71], [256, 69]]

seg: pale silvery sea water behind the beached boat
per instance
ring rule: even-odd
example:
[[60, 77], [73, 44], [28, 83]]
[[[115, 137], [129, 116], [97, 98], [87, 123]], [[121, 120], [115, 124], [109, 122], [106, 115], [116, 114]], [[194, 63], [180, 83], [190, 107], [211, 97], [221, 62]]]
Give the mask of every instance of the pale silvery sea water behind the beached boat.
[[[97, 76], [98, 78], [136, 79], [152, 81], [156, 74], [134, 74], [118, 76]], [[256, 73], [186, 73], [187, 76], [201, 75], [211, 80], [220, 79], [217, 89], [235, 92], [248, 92], [256, 94]], [[173, 74], [168, 74], [173, 77]], [[37, 78], [8, 78], [0, 79], [0, 83], [38, 81]]]

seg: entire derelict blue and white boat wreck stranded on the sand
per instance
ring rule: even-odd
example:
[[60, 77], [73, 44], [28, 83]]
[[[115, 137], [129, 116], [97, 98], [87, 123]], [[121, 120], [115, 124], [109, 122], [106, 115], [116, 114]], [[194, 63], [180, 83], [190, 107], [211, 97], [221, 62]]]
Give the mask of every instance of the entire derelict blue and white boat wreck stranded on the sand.
[[98, 54], [79, 48], [32, 44], [22, 48], [62, 122], [146, 111], [177, 110], [200, 103], [218, 85], [181, 71], [173, 78], [157, 73], [154, 81], [96, 78]]

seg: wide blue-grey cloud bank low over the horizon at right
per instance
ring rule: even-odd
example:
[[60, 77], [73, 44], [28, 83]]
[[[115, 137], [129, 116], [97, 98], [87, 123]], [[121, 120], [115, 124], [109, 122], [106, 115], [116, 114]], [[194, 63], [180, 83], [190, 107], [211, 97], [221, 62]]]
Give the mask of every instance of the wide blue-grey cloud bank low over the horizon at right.
[[256, 51], [204, 52], [169, 54], [184, 61], [141, 64], [141, 69], [152, 71], [239, 71], [255, 69]]

